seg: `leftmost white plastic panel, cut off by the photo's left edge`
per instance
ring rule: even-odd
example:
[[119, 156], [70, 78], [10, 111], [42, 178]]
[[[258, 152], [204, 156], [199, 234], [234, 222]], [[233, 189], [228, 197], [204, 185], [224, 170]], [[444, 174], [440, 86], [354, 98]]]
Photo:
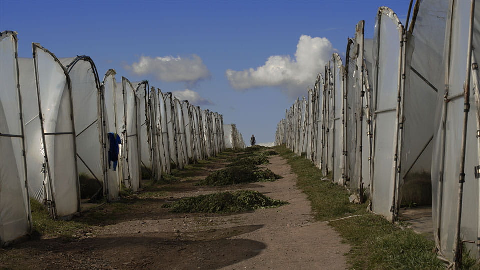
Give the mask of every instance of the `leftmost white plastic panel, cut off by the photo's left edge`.
[[0, 246], [27, 235], [32, 225], [17, 46], [16, 32], [0, 33]]

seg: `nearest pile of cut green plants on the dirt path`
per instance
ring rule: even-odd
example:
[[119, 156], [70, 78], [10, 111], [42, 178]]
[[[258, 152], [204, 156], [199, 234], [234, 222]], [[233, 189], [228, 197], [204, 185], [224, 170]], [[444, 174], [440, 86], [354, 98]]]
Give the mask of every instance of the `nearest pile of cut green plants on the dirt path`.
[[165, 203], [162, 207], [169, 208], [174, 213], [233, 213], [274, 208], [285, 204], [288, 202], [271, 199], [258, 191], [239, 190], [183, 198]]

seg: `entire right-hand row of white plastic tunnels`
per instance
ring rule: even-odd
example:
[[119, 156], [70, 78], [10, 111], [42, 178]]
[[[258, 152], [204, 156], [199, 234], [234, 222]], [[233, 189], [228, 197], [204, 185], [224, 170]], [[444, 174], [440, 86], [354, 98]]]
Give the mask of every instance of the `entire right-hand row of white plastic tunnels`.
[[405, 23], [380, 7], [373, 38], [360, 21], [276, 132], [373, 213], [396, 221], [405, 202], [431, 205], [438, 254], [454, 267], [462, 245], [480, 258], [475, 2], [417, 0]]

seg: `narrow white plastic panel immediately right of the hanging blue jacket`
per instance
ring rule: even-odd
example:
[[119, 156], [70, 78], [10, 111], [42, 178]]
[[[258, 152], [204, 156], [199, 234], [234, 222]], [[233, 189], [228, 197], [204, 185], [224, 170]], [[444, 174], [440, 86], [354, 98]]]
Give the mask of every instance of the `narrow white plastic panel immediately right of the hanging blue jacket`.
[[140, 187], [141, 178], [141, 155], [140, 155], [140, 110], [138, 109], [139, 98], [135, 93], [135, 88], [131, 82], [125, 78], [122, 79], [123, 89], [123, 108], [124, 108], [124, 126], [126, 128], [125, 139], [122, 140], [123, 151], [126, 157], [128, 173], [124, 175], [124, 183], [127, 188], [137, 191]]

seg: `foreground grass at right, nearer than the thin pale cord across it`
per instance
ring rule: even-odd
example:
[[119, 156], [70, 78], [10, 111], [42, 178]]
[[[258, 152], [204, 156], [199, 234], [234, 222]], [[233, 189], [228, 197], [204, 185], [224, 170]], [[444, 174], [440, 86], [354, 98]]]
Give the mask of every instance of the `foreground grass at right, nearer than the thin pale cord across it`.
[[352, 245], [352, 269], [444, 269], [435, 244], [411, 229], [400, 229], [381, 216], [367, 214], [329, 223]]

